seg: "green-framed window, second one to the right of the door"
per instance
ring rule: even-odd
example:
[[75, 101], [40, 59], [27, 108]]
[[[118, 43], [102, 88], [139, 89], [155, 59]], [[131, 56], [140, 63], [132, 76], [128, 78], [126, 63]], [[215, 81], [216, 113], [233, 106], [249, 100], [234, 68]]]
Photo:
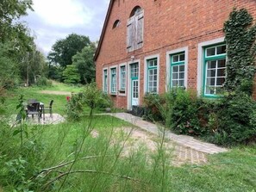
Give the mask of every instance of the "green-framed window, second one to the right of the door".
[[185, 53], [171, 55], [171, 88], [185, 86]]

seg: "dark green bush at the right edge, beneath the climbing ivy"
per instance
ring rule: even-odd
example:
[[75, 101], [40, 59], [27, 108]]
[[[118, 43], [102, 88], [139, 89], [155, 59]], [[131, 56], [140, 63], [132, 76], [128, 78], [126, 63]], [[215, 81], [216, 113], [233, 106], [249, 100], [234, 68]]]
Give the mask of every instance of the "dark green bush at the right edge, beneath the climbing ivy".
[[[215, 113], [212, 141], [230, 146], [245, 143], [256, 135], [256, 102], [246, 93], [224, 96]], [[210, 121], [209, 121], [210, 122]]]

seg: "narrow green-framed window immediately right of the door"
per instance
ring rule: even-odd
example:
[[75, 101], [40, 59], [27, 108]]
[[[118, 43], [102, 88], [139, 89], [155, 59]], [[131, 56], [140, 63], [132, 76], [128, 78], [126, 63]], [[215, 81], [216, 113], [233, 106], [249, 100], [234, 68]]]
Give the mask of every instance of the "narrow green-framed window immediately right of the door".
[[158, 59], [147, 60], [147, 92], [158, 92]]

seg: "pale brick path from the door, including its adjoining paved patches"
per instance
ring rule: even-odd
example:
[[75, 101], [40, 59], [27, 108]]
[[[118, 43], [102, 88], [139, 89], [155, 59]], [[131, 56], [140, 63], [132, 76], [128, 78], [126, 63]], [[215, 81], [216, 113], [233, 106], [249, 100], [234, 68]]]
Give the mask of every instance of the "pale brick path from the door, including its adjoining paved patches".
[[[148, 133], [152, 133], [155, 136], [162, 134], [159, 126], [148, 121], [143, 121], [140, 117], [128, 113], [114, 113], [109, 115], [128, 121], [134, 124], [134, 126], [139, 127], [133, 130], [132, 138], [137, 138], [146, 143], [149, 147], [153, 146], [153, 138], [150, 138], [150, 134]], [[147, 133], [145, 133], [145, 131]], [[208, 154], [228, 152], [226, 148], [215, 146], [214, 144], [209, 144], [187, 135], [178, 135], [168, 130], [165, 131], [165, 139], [169, 140], [169, 142], [165, 142], [166, 145], [173, 149], [174, 158], [172, 164], [177, 166], [187, 163], [206, 164]]]

